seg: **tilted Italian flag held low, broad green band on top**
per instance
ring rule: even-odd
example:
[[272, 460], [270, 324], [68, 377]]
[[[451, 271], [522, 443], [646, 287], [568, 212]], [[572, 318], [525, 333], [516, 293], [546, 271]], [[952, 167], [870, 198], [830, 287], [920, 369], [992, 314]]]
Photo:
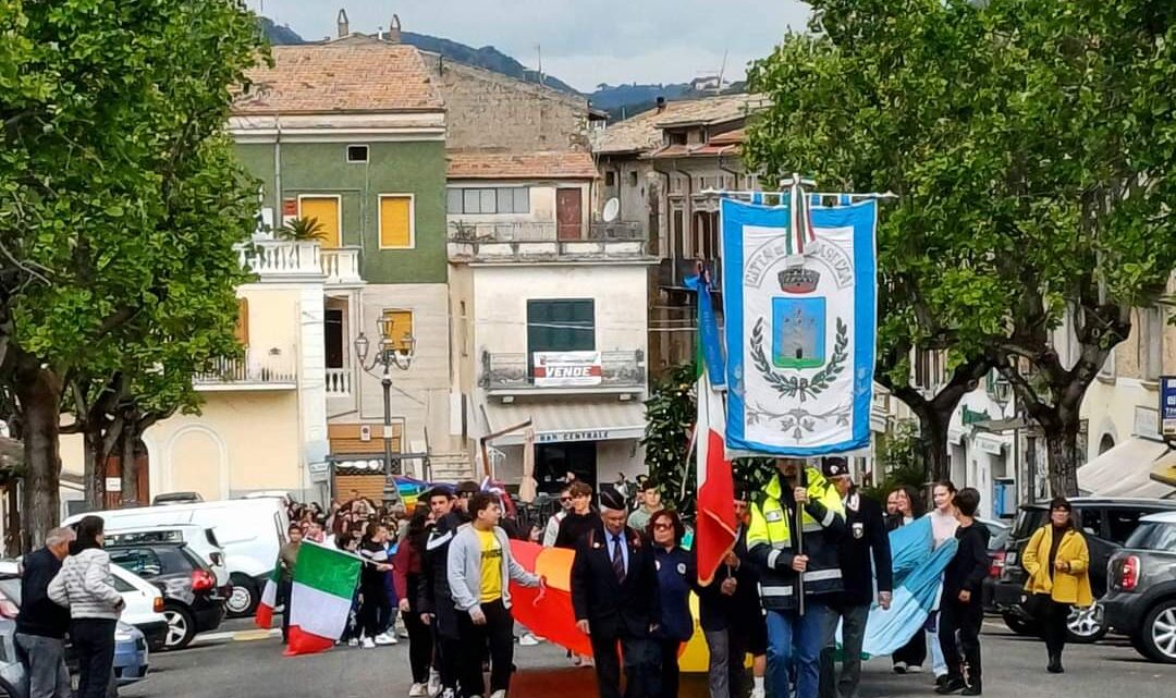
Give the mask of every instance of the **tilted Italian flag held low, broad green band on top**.
[[302, 542], [287, 611], [287, 657], [329, 650], [343, 635], [361, 564], [358, 556]]

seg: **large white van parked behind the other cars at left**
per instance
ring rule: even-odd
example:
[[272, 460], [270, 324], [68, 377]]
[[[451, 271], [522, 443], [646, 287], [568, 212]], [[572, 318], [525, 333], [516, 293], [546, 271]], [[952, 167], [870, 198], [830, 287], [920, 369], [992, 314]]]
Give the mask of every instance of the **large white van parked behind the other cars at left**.
[[269, 498], [91, 511], [71, 516], [62, 524], [73, 525], [89, 515], [102, 517], [111, 531], [175, 524], [212, 529], [225, 550], [225, 565], [233, 585], [226, 603], [230, 616], [248, 616], [256, 610], [289, 526], [286, 508]]

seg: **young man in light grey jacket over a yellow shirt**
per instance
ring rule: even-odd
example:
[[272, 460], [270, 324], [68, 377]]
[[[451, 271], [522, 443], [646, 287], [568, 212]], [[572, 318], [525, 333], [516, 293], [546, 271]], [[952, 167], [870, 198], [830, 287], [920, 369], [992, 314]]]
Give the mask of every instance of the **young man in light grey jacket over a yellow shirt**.
[[510, 687], [514, 660], [514, 618], [510, 616], [510, 582], [539, 586], [510, 555], [510, 538], [499, 525], [502, 505], [497, 495], [479, 492], [469, 501], [469, 524], [462, 525], [449, 544], [449, 589], [457, 609], [457, 632], [467, 650], [460, 664], [462, 693], [482, 696], [482, 653], [489, 643], [490, 698], [505, 698]]

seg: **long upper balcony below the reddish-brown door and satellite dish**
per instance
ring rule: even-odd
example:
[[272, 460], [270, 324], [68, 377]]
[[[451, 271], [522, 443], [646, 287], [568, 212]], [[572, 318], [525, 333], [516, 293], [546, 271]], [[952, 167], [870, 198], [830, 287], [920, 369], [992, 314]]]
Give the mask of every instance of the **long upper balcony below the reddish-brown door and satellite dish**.
[[594, 223], [561, 240], [554, 222], [450, 220], [448, 248], [453, 262], [652, 261], [639, 223]]

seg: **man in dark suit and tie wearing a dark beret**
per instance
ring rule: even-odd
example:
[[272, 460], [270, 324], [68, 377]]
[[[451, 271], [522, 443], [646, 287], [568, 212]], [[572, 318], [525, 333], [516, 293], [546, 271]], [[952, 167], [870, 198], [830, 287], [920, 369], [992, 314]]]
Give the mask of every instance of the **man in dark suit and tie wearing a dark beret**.
[[626, 525], [628, 509], [615, 490], [600, 495], [601, 524], [580, 542], [572, 565], [576, 626], [592, 639], [601, 698], [621, 698], [617, 644], [624, 656], [624, 698], [656, 698], [657, 571], [648, 542]]

